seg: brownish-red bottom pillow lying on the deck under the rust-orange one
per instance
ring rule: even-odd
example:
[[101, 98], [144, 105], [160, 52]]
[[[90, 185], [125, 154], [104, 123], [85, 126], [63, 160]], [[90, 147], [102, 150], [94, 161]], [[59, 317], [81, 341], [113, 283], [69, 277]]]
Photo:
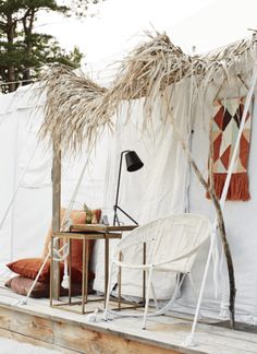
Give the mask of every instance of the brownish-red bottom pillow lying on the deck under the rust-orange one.
[[[10, 287], [14, 293], [26, 296], [29, 292], [34, 280], [24, 278], [22, 275], [16, 275], [10, 279], [4, 285]], [[88, 287], [88, 294], [93, 292], [91, 287]], [[50, 286], [47, 283], [36, 282], [34, 290], [30, 293], [30, 297], [49, 297]], [[60, 286], [60, 296], [68, 296], [68, 288]], [[72, 296], [77, 296], [82, 294], [81, 284], [72, 284]]]

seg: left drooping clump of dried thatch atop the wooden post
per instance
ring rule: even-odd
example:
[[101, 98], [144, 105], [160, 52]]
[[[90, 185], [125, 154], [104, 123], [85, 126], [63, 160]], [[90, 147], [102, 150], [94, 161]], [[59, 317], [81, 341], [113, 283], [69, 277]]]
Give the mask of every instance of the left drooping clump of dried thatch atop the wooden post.
[[79, 151], [84, 141], [95, 144], [102, 128], [111, 123], [105, 115], [108, 91], [65, 67], [53, 67], [42, 82], [47, 103], [40, 138], [66, 152]]

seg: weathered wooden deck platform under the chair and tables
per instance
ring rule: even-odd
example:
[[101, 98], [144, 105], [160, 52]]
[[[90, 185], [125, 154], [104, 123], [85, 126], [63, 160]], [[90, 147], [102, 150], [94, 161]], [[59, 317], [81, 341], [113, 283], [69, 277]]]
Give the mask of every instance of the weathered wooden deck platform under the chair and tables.
[[[0, 286], [0, 337], [16, 339], [36, 345], [56, 349], [62, 353], [88, 354], [172, 354], [257, 353], [257, 335], [243, 331], [199, 323], [195, 347], [184, 347], [192, 319], [187, 316], [161, 316], [148, 320], [142, 330], [139, 318], [117, 318], [103, 321], [101, 315], [89, 322], [87, 315], [51, 308], [48, 299], [29, 299], [16, 305], [23, 297]], [[102, 302], [90, 303], [102, 307]]]

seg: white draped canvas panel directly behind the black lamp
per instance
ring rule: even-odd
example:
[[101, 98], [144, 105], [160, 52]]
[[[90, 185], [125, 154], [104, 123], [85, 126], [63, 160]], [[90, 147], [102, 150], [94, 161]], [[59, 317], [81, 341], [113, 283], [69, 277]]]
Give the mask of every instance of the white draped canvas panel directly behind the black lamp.
[[[176, 94], [180, 94], [178, 86]], [[171, 95], [171, 92], [169, 92]], [[186, 102], [186, 101], [185, 101]], [[117, 131], [109, 149], [109, 164], [106, 180], [106, 206], [112, 222], [112, 205], [117, 188], [118, 168], [122, 151], [135, 150], [144, 167], [135, 173], [127, 173], [125, 161], [121, 175], [119, 205], [140, 225], [158, 217], [181, 213], [186, 205], [187, 163], [171, 123], [166, 116], [161, 98], [155, 103], [149, 129], [143, 132], [144, 99], [136, 101], [132, 107], [124, 103], [117, 117]], [[178, 128], [184, 137], [188, 135], [185, 103], [176, 110]], [[130, 118], [130, 119], [128, 119]], [[121, 212], [119, 219], [125, 224], [132, 222]], [[125, 237], [125, 235], [123, 236]], [[113, 245], [115, 241], [112, 241]], [[94, 288], [103, 291], [103, 245], [98, 243], [96, 280]], [[135, 255], [136, 261], [136, 255]], [[130, 274], [130, 275], [128, 275]], [[154, 282], [157, 297], [169, 298], [174, 286], [174, 274], [156, 273]], [[124, 270], [122, 272], [123, 295], [142, 296], [142, 274]], [[114, 279], [113, 279], [114, 285]]]

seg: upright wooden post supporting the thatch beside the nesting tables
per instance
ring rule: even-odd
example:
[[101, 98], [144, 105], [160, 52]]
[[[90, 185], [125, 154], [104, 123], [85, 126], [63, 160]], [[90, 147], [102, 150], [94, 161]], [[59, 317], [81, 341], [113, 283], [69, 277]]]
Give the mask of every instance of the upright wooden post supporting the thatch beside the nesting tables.
[[[52, 231], [60, 232], [61, 226], [61, 151], [53, 143], [52, 157]], [[54, 240], [53, 248], [59, 249], [60, 241]], [[59, 262], [52, 262], [52, 298], [60, 296], [60, 268]]]

